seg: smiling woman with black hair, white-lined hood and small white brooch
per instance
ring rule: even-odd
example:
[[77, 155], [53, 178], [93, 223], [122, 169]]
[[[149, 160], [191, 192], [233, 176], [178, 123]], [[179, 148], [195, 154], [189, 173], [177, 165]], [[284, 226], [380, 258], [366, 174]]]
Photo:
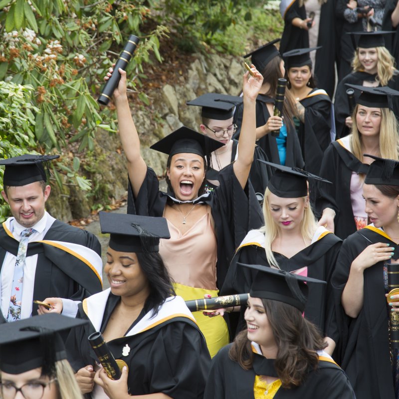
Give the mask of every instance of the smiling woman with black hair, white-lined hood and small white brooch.
[[[210, 357], [158, 252], [160, 238], [169, 237], [166, 220], [100, 212], [100, 223], [111, 233], [104, 267], [110, 288], [79, 305], [78, 317], [90, 323], [67, 341], [82, 393], [120, 399], [129, 398], [130, 388], [144, 398], [202, 398]], [[118, 381], [97, 366], [87, 339], [96, 331], [127, 365]]]

